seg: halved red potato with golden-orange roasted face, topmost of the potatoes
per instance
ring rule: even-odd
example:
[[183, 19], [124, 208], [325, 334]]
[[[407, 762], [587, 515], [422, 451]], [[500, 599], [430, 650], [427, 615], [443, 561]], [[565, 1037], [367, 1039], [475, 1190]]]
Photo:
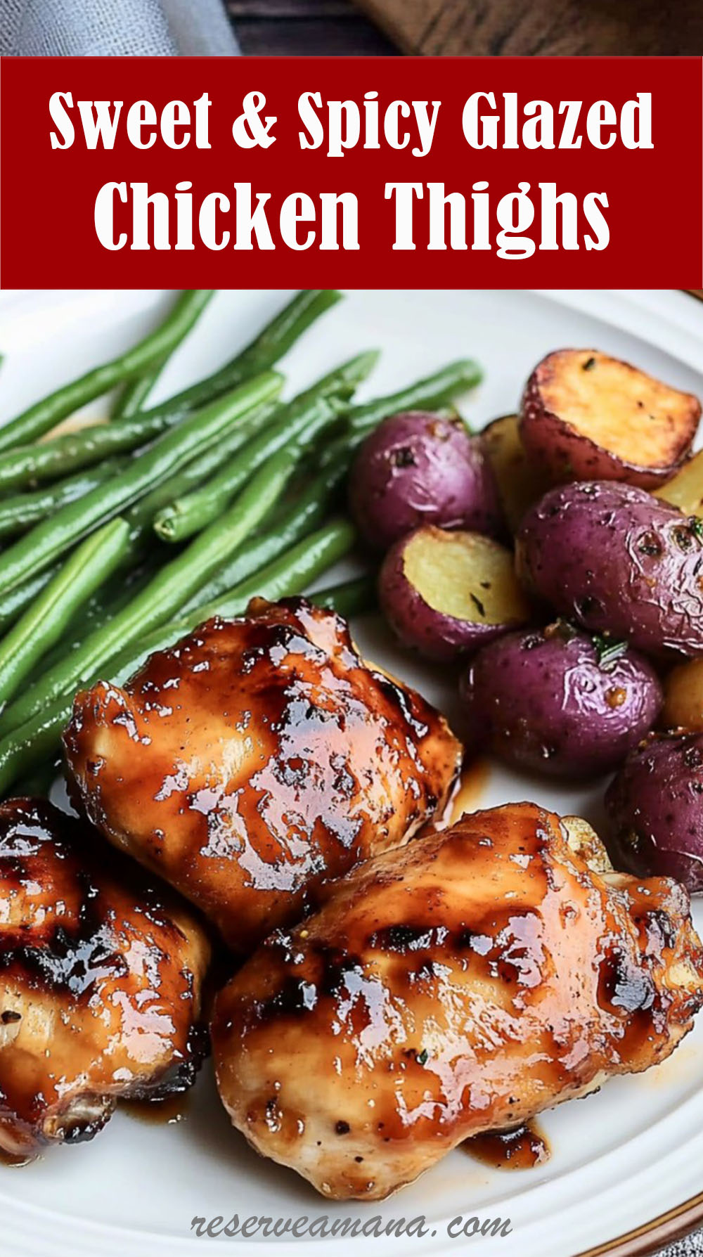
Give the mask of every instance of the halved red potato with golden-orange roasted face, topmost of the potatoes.
[[700, 402], [597, 349], [557, 349], [521, 405], [528, 458], [552, 481], [625, 480], [651, 489], [687, 460]]

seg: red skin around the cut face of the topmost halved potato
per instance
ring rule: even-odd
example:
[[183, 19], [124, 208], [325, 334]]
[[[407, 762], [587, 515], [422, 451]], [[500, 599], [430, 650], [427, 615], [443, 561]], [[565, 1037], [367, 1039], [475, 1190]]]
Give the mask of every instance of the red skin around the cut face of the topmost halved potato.
[[[545, 392], [558, 378], [565, 358], [578, 353], [585, 362], [604, 358], [596, 349], [557, 349], [537, 363], [524, 386], [521, 401], [519, 435], [529, 460], [546, 473], [552, 483], [572, 480], [625, 480], [643, 489], [654, 489], [669, 480], [689, 456], [700, 419], [697, 398], [689, 397], [690, 416], [680, 439], [672, 446], [669, 458], [661, 466], [640, 466], [621, 454], [596, 444], [585, 432], [577, 431], [565, 419], [555, 414]], [[617, 360], [607, 360], [616, 362]], [[617, 362], [625, 375], [648, 377], [628, 362]]]

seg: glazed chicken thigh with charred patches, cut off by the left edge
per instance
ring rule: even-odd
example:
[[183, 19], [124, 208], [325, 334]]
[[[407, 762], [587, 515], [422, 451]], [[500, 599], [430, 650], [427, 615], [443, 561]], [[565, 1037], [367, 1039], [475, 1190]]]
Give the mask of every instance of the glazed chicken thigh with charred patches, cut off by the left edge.
[[0, 806], [0, 1148], [13, 1156], [91, 1139], [119, 1096], [185, 1090], [202, 1057], [202, 926], [94, 842], [44, 799]]

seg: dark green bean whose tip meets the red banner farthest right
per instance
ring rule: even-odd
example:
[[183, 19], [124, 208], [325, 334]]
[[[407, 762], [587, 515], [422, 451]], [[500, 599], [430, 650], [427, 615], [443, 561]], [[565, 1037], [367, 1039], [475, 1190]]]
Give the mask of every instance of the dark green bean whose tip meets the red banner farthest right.
[[341, 295], [333, 289], [324, 288], [297, 293], [293, 300], [224, 367], [205, 380], [199, 380], [195, 385], [184, 388], [175, 397], [169, 397], [158, 406], [142, 411], [142, 415], [145, 417], [167, 416], [171, 421], [179, 420], [184, 414], [214, 401], [252, 376], [268, 371], [288, 352], [314, 319], [341, 300]]

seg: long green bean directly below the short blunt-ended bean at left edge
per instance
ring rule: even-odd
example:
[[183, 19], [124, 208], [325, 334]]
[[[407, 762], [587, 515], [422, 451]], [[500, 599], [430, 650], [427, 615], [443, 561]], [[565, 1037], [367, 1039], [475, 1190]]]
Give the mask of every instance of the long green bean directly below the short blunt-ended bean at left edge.
[[44, 672], [4, 711], [0, 730], [23, 724], [69, 686], [86, 680], [122, 645], [174, 615], [263, 519], [280, 497], [294, 465], [296, 456], [288, 450], [270, 459], [221, 519], [166, 563], [118, 615], [91, 632], [77, 650]]

